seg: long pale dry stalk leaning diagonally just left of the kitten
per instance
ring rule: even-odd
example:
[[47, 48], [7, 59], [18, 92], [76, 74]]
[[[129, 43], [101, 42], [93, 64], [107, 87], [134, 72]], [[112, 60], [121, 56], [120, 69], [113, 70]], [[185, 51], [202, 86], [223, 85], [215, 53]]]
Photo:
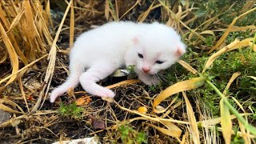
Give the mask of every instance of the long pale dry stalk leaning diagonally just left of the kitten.
[[[39, 94], [39, 97], [38, 97], [38, 101], [36, 102], [36, 104], [34, 105], [33, 109], [31, 110], [31, 113], [34, 113], [34, 111], [38, 110], [38, 106], [40, 105], [40, 103], [42, 101], [42, 95], [43, 94], [45, 94], [45, 97], [43, 99], [41, 107], [42, 107], [43, 103], [46, 100], [46, 94], [48, 93], [48, 90], [50, 88], [50, 82], [51, 82], [51, 79], [53, 78], [53, 74], [54, 74], [54, 66], [55, 66], [56, 53], [57, 53], [56, 52], [57, 51], [56, 50], [57, 49], [56, 48], [56, 42], [58, 41], [58, 36], [59, 36], [59, 34], [60, 34], [61, 30], [62, 30], [63, 23], [64, 23], [64, 21], [66, 19], [67, 13], [70, 10], [70, 6], [71, 6], [72, 2], [73, 2], [73, 0], [70, 0], [69, 5], [66, 7], [66, 11], [65, 11], [65, 14], [64, 14], [64, 16], [62, 18], [62, 22], [60, 23], [60, 25], [58, 27], [58, 31], [57, 31], [56, 36], [54, 38], [53, 45], [50, 48], [50, 53], [49, 53], [49, 57], [48, 57], [50, 59], [50, 61], [49, 61], [49, 65], [48, 65], [47, 70], [46, 70], [46, 77], [44, 79], [44, 83], [46, 83], [46, 85], [44, 85], [42, 87], [42, 90], [41, 90], [41, 92]], [[46, 93], [44, 93], [45, 90], [46, 90]]]

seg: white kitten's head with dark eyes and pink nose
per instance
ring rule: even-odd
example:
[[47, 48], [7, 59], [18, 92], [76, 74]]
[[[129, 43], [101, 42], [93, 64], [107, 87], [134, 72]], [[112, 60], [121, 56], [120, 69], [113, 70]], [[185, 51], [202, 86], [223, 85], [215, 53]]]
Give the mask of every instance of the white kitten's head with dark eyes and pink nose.
[[136, 70], [157, 74], [170, 67], [186, 52], [180, 36], [169, 26], [154, 22], [147, 24], [133, 39]]

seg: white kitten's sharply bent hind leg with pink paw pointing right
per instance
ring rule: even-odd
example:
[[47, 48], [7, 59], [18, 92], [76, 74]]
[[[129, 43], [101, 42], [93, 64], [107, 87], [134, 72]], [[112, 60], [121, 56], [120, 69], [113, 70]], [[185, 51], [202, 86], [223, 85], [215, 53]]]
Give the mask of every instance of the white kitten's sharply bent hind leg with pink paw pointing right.
[[106, 78], [116, 69], [116, 66], [105, 62], [95, 64], [80, 76], [80, 84], [82, 85], [82, 88], [89, 94], [97, 95], [99, 97], [113, 98], [115, 94], [112, 90], [99, 86], [96, 82]]

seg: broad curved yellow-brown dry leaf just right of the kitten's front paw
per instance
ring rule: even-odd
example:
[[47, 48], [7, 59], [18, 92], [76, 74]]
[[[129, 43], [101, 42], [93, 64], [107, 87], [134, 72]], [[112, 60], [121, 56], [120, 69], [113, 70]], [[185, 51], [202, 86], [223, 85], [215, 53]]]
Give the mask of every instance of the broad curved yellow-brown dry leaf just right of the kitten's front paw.
[[163, 100], [170, 97], [173, 94], [176, 94], [178, 92], [184, 91], [184, 90], [193, 90], [198, 88], [199, 86], [202, 86], [205, 83], [206, 78], [204, 77], [198, 77], [198, 78], [191, 78], [186, 81], [175, 83], [172, 86], [169, 86], [166, 88], [166, 90], [162, 90], [160, 94], [154, 99], [153, 102], [153, 110], [155, 113], [163, 113], [165, 110], [157, 110], [155, 107], [158, 106]]

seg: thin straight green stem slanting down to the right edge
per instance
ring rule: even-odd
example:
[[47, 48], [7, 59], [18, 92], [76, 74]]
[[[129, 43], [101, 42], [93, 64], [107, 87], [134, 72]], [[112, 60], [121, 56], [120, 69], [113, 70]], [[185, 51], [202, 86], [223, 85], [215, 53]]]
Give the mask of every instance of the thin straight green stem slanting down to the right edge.
[[[198, 73], [200, 77], [203, 77], [202, 74]], [[238, 118], [240, 122], [245, 126], [246, 130], [249, 130], [251, 134], [254, 134], [256, 136], [256, 128], [252, 125], [250, 125], [242, 116], [238, 113], [237, 110], [230, 104], [228, 99], [225, 97], [224, 94], [222, 94], [221, 91], [218, 90], [216, 86], [214, 86], [213, 83], [211, 83], [209, 80], [206, 79], [206, 82], [215, 90], [215, 92], [223, 99], [223, 102], [225, 105], [230, 109], [230, 111]]]

